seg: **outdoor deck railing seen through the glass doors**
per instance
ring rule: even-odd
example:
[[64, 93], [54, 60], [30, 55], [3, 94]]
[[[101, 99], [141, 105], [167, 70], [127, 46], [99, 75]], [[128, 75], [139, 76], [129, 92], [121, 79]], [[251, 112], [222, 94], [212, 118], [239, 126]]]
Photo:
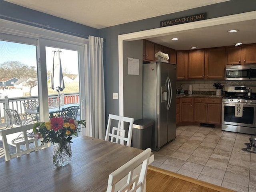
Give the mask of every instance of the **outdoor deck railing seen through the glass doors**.
[[[60, 103], [61, 104], [70, 104], [70, 103], [79, 103], [79, 93], [72, 94], [61, 94], [60, 95]], [[59, 99], [57, 94], [49, 95], [48, 99]], [[9, 119], [7, 118], [7, 114], [5, 109], [15, 109], [18, 111], [20, 118], [23, 119], [24, 106], [22, 103], [28, 101], [38, 101], [38, 96], [26, 96], [26, 97], [16, 97], [16, 98], [8, 98], [7, 96], [0, 99], [0, 128], [6, 127], [8, 125]]]

